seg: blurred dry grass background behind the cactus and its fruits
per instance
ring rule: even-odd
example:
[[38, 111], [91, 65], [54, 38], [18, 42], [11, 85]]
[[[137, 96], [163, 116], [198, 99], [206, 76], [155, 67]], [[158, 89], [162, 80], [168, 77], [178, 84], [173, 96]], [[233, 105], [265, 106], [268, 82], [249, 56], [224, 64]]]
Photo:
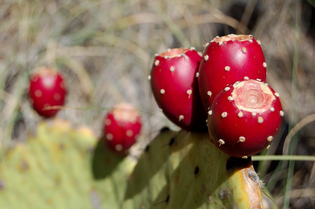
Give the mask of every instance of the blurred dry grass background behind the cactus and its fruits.
[[[262, 43], [267, 82], [280, 93], [283, 126], [268, 155], [283, 153], [289, 130], [315, 113], [314, 0], [1, 0], [0, 146], [35, 134], [40, 120], [27, 97], [28, 78], [58, 68], [68, 86], [58, 117], [101, 137], [106, 111], [130, 102], [144, 128], [138, 155], [163, 126], [147, 79], [154, 54], [195, 47], [215, 36], [252, 34]], [[315, 154], [314, 116], [292, 137], [288, 153]], [[263, 153], [266, 154], [266, 153]], [[280, 208], [315, 207], [313, 161], [254, 162]]]

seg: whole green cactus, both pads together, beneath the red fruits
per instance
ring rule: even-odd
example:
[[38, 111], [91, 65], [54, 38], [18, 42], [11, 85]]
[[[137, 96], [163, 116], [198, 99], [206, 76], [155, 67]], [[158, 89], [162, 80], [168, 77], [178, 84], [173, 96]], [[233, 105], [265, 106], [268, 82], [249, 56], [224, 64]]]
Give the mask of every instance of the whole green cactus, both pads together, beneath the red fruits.
[[106, 150], [88, 128], [55, 119], [0, 154], [3, 208], [263, 207], [250, 157], [222, 153], [204, 132], [163, 129], [135, 166]]

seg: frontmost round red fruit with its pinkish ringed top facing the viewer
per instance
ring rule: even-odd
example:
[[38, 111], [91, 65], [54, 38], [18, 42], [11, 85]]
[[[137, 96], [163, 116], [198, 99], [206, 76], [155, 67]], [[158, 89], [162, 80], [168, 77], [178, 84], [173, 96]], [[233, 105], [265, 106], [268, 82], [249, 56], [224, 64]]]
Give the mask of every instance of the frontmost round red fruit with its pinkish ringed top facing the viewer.
[[210, 138], [226, 154], [246, 158], [269, 148], [283, 115], [279, 94], [268, 84], [237, 81], [225, 87], [210, 107]]

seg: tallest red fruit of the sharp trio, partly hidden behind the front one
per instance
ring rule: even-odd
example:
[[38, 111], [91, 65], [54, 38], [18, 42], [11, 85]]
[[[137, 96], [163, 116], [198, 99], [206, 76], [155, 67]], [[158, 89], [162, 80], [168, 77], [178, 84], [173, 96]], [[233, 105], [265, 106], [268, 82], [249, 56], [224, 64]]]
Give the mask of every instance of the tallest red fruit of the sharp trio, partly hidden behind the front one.
[[226, 85], [244, 77], [265, 82], [266, 67], [260, 42], [252, 35], [217, 36], [205, 45], [199, 66], [198, 85], [204, 108], [208, 110]]

